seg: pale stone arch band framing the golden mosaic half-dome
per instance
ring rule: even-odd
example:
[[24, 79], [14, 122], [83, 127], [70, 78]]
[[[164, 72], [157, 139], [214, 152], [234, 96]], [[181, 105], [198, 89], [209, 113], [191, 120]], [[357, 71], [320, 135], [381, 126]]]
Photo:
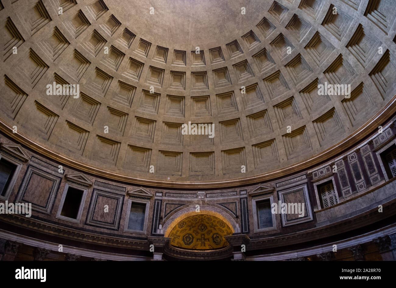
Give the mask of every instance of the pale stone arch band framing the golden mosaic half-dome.
[[184, 205], [176, 209], [168, 218], [165, 218], [162, 225], [165, 231], [165, 237], [169, 237], [169, 233], [172, 228], [181, 220], [197, 214], [207, 214], [220, 218], [232, 229], [232, 233], [238, 230], [237, 228], [239, 228], [239, 224], [235, 221], [234, 216], [224, 207], [217, 204], [205, 204], [200, 205], [199, 208], [200, 212], [196, 212], [196, 204]]

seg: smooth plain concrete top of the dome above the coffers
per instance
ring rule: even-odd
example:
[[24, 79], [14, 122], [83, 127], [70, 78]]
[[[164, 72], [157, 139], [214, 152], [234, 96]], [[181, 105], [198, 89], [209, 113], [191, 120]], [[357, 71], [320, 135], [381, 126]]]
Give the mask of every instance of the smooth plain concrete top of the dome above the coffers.
[[[156, 45], [179, 50], [195, 50], [196, 46], [210, 49], [235, 40], [240, 31], [249, 31], [263, 18], [257, 11], [263, 9], [265, 2], [105, 1], [110, 11], [116, 13], [119, 20], [136, 31], [139, 37]], [[150, 14], [151, 7], [154, 8], [154, 14]], [[241, 13], [242, 7], [246, 9], [245, 15]]]

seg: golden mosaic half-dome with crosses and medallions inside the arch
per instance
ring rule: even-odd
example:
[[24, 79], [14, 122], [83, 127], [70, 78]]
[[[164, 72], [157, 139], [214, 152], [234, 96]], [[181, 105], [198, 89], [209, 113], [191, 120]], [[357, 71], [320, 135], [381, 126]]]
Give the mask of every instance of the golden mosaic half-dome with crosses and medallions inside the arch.
[[197, 214], [181, 220], [169, 233], [171, 245], [194, 250], [228, 246], [224, 237], [228, 235], [232, 235], [232, 230], [223, 220], [206, 214]]

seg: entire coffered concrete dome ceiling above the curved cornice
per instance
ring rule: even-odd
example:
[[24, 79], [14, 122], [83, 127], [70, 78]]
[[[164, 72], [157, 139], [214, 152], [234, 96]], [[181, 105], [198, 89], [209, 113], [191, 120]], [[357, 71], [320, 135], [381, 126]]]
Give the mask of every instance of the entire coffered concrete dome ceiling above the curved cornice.
[[[2, 129], [109, 178], [227, 186], [335, 155], [395, 95], [389, 1], [365, 12], [348, 0], [127, 2], [0, 10]], [[51, 95], [53, 83], [80, 93]], [[350, 97], [318, 95], [328, 83]], [[214, 137], [183, 135], [188, 122]]]

